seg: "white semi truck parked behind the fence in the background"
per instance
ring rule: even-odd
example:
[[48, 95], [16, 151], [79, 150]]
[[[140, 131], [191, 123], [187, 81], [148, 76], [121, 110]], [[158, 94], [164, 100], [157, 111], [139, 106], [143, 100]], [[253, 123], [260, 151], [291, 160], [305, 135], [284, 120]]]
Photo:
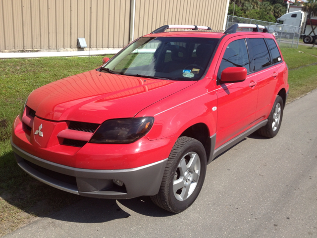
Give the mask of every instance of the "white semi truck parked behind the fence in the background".
[[[286, 36], [286, 38], [289, 38], [293, 34], [300, 34], [304, 43], [310, 44], [315, 42], [317, 35], [314, 35], [312, 31], [310, 20], [307, 17], [307, 12], [301, 10], [292, 11], [296, 10], [296, 8], [290, 7], [290, 12], [282, 15], [280, 18], [277, 18], [277, 24], [275, 26], [270, 26], [269, 28], [273, 28], [279, 34], [282, 33]], [[312, 23], [313, 27], [317, 25], [317, 17], [312, 17]], [[295, 28], [292, 26], [301, 28]], [[315, 29], [315, 33], [317, 33], [317, 28]]]

